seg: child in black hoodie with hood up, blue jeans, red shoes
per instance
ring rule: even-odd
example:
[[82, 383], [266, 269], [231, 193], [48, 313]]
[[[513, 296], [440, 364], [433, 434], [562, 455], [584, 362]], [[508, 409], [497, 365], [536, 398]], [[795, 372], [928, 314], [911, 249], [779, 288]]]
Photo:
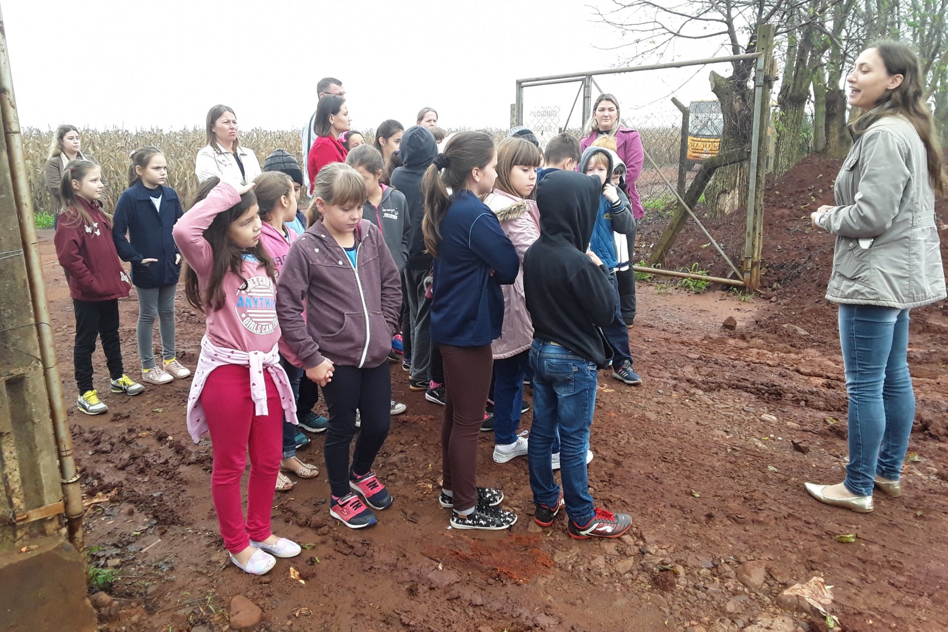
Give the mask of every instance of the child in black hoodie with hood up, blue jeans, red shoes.
[[[619, 537], [631, 527], [628, 514], [595, 507], [586, 470], [596, 370], [604, 369], [612, 355], [601, 328], [615, 315], [609, 270], [586, 254], [601, 192], [596, 176], [557, 171], [544, 177], [537, 188], [540, 236], [523, 259], [523, 289], [534, 326], [534, 421], [527, 451], [534, 520], [549, 527], [565, 505], [567, 532], [576, 539]], [[562, 494], [550, 454], [557, 429]]]

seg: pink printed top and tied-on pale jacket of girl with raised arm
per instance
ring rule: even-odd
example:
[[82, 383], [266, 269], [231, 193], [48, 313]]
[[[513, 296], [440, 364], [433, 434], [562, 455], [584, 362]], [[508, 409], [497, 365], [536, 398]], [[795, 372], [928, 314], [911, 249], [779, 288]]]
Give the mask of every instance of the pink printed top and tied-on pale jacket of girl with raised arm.
[[[197, 275], [201, 292], [207, 289], [214, 257], [213, 249], [204, 239], [204, 231], [218, 213], [239, 202], [237, 191], [222, 182], [174, 225], [174, 243]], [[250, 368], [249, 388], [258, 415], [268, 414], [263, 371], [269, 372], [280, 393], [286, 421], [297, 422], [293, 392], [277, 352], [280, 324], [277, 321], [276, 284], [266, 275], [263, 263], [251, 257], [245, 259], [241, 276], [228, 273], [222, 286], [225, 300], [221, 309], [205, 306], [208, 331], [201, 341], [201, 356], [188, 397], [188, 431], [195, 443], [200, 441], [208, 427], [200, 404], [201, 390], [210, 371], [225, 364]]]

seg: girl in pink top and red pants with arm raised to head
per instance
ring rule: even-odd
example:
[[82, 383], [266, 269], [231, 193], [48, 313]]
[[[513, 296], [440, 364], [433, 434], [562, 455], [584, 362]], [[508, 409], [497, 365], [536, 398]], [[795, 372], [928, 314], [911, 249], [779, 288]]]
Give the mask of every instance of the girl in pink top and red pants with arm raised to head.
[[[188, 263], [185, 295], [208, 323], [188, 398], [188, 430], [195, 443], [210, 430], [210, 493], [230, 560], [263, 575], [276, 563], [274, 555], [300, 554], [298, 544], [270, 531], [283, 421], [296, 423], [296, 405], [280, 366], [276, 269], [261, 244], [252, 188], [234, 189], [210, 178], [173, 236]], [[241, 477], [247, 452], [245, 521]]]

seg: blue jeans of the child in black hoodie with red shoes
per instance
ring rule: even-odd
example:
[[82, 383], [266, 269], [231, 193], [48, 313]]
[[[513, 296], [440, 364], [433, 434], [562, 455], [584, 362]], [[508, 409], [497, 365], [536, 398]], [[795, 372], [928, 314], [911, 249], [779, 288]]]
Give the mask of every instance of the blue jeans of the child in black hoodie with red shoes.
[[558, 431], [566, 514], [577, 524], [587, 524], [595, 511], [586, 472], [595, 408], [595, 363], [535, 338], [530, 349], [530, 367], [534, 370], [534, 421], [527, 460], [534, 503], [556, 507], [559, 499], [550, 458]]

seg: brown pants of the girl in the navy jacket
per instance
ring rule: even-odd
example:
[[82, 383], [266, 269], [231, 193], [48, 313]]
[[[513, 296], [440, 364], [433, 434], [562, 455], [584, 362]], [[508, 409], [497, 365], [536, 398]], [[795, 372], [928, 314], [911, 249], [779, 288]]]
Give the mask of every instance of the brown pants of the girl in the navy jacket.
[[445, 361], [445, 416], [441, 422], [444, 488], [454, 494], [454, 509], [477, 505], [477, 448], [483, 407], [494, 359], [490, 345], [439, 345]]

